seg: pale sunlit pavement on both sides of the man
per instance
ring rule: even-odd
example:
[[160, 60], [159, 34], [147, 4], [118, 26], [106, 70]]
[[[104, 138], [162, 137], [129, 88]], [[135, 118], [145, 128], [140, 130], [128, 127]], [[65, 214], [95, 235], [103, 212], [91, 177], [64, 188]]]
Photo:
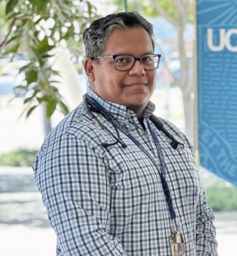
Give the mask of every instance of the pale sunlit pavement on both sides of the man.
[[[0, 205], [1, 255], [56, 255], [56, 235], [31, 167], [0, 166]], [[237, 212], [217, 212], [215, 217], [218, 255], [236, 255]]]

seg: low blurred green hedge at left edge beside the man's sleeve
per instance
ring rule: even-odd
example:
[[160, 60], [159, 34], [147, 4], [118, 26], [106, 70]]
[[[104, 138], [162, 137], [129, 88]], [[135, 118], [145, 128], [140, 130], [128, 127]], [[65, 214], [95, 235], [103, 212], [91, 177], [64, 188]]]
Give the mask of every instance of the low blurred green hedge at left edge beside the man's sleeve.
[[0, 166], [31, 166], [37, 151], [19, 149], [0, 155]]

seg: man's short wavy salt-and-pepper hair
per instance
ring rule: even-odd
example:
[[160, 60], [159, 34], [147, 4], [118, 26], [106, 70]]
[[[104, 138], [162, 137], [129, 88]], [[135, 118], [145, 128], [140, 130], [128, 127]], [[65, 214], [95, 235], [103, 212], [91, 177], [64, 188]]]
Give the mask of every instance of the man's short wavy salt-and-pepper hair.
[[120, 12], [109, 14], [106, 17], [93, 21], [89, 28], [83, 32], [84, 48], [86, 57], [94, 59], [105, 51], [106, 39], [114, 29], [143, 27], [150, 36], [155, 49], [153, 25], [143, 18], [138, 12]]

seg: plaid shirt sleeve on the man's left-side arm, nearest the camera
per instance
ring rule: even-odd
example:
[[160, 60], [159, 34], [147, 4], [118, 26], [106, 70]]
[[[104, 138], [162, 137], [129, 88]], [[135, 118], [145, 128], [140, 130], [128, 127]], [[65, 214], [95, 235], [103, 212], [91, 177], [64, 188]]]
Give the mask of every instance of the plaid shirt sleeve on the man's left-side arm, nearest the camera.
[[109, 235], [106, 166], [99, 150], [69, 134], [48, 143], [35, 158], [35, 180], [62, 255], [126, 256], [119, 239]]

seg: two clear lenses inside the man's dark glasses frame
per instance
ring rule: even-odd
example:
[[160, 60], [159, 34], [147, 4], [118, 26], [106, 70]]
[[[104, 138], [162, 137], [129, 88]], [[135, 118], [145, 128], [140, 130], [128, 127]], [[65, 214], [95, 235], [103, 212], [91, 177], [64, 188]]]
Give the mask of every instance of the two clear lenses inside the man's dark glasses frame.
[[[114, 60], [115, 68], [118, 70], [129, 70], [132, 68], [135, 59], [131, 55], [119, 55]], [[153, 70], [158, 67], [159, 57], [156, 55], [143, 55], [141, 57], [141, 65], [146, 70]]]

